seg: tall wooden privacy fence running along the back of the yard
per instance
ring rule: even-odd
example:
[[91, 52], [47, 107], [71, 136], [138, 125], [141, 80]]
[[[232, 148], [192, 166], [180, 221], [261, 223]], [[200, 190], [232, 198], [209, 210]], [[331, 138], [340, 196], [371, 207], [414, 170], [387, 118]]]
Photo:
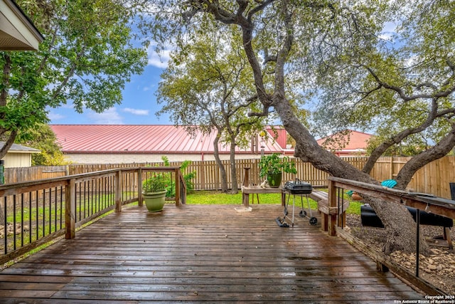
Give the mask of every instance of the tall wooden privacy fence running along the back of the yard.
[[[342, 157], [346, 162], [361, 169], [367, 157]], [[371, 172], [371, 176], [382, 181], [393, 179], [397, 176], [400, 169], [406, 164], [410, 157], [381, 157], [376, 162]], [[315, 169], [309, 162], [301, 162], [295, 159], [298, 174], [284, 174], [283, 180], [293, 180], [296, 177], [311, 183], [315, 187], [327, 187], [328, 174]], [[238, 187], [242, 185], [243, 168], [250, 167], [250, 182], [260, 184], [259, 180], [259, 159], [237, 159], [235, 168], [237, 170]], [[178, 167], [181, 162], [170, 162], [172, 167]], [[223, 161], [223, 165], [228, 177], [228, 187], [232, 185], [230, 177], [230, 161]], [[164, 162], [154, 163], [133, 163], [133, 164], [71, 164], [68, 166], [54, 167], [30, 167], [30, 168], [7, 168], [5, 169], [5, 182], [25, 182], [36, 179], [46, 179], [50, 177], [62, 177], [70, 174], [82, 174], [96, 172], [105, 169], [120, 169], [127, 167], [146, 167], [164, 166]], [[221, 189], [220, 169], [215, 161], [198, 161], [191, 164], [183, 171], [183, 174], [196, 171], [196, 178], [193, 179], [194, 189], [196, 190], [216, 190]], [[449, 183], [455, 182], [455, 156], [446, 156], [427, 164], [414, 174], [408, 188], [415, 192], [423, 192], [451, 198]]]

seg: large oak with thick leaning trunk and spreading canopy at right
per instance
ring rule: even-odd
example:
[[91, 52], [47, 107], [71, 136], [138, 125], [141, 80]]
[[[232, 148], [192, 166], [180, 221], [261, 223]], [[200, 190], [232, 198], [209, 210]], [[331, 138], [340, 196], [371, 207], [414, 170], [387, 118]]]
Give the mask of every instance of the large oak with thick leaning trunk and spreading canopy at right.
[[[437, 145], [416, 155], [406, 164], [397, 177], [401, 187], [407, 184], [419, 167], [442, 157], [454, 145], [455, 127], [449, 113], [449, 109], [453, 108], [455, 80], [451, 51], [454, 25], [450, 22], [454, 17], [454, 8], [450, 2], [153, 2], [156, 5], [151, 9], [154, 12], [151, 24], [156, 39], [173, 37], [181, 41], [188, 32], [203, 31], [200, 20], [207, 15], [220, 23], [237, 27], [242, 35], [245, 56], [252, 68], [251, 81], [262, 103], [262, 111], [251, 112], [250, 115], [268, 115], [271, 109], [276, 110], [287, 132], [296, 141], [295, 156], [311, 162], [317, 169], [335, 177], [380, 183], [370, 177], [368, 167], [365, 171], [356, 169], [319, 147], [309, 127], [295, 115], [295, 108], [287, 94], [289, 80], [293, 80], [293, 84], [299, 83], [294, 85], [294, 90], [309, 96], [319, 93], [318, 90], [329, 93], [331, 88], [336, 88], [333, 92], [339, 94], [339, 99], [346, 98], [351, 102], [365, 100], [365, 105], [361, 107], [364, 111], [375, 111], [380, 99], [403, 102], [402, 105], [412, 104], [412, 107], [417, 103], [427, 103], [423, 117], [426, 115], [431, 119], [434, 115], [441, 115], [445, 131], [439, 132]], [[400, 16], [395, 14], [397, 11], [400, 11]], [[398, 23], [398, 30], [402, 30], [400, 38], [409, 45], [387, 48], [387, 43], [382, 40], [385, 22]], [[340, 81], [346, 78], [349, 81]], [[331, 98], [336, 97], [331, 94]], [[435, 101], [442, 103], [433, 106]], [[340, 104], [340, 108], [345, 106]], [[330, 115], [331, 109], [326, 110]], [[410, 129], [422, 127], [416, 124]], [[425, 126], [423, 129], [427, 130]], [[390, 140], [393, 144], [407, 137], [400, 128], [396, 130], [397, 136]], [[378, 154], [382, 154], [381, 149], [382, 146]], [[368, 200], [389, 235], [385, 252], [398, 249], [414, 251], [416, 242], [412, 231], [415, 223], [407, 209], [373, 197]], [[422, 251], [427, 251], [425, 243], [421, 244]]]

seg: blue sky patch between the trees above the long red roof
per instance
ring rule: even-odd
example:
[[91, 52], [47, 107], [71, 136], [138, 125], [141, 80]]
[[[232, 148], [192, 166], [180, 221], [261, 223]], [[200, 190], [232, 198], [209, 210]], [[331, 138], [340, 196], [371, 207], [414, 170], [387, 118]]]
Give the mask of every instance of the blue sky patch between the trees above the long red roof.
[[167, 115], [156, 117], [161, 105], [156, 104], [155, 92], [160, 74], [166, 68], [168, 51], [161, 58], [149, 48], [149, 63], [141, 75], [133, 75], [125, 85], [121, 105], [102, 113], [85, 110], [75, 112], [72, 105], [48, 109], [50, 124], [53, 125], [172, 125]]

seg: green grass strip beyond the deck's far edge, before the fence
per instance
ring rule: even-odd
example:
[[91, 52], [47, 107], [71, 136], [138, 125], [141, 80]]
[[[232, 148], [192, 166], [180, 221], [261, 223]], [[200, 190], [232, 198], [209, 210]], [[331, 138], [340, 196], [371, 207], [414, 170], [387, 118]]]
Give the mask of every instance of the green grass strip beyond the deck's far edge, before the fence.
[[[252, 203], [252, 196], [250, 195], [250, 204]], [[347, 194], [345, 194], [345, 199], [349, 199]], [[260, 204], [281, 204], [281, 194], [272, 193], [272, 194], [259, 194], [259, 203]], [[309, 199], [311, 209], [317, 209], [316, 201]], [[255, 195], [255, 204], [257, 203], [257, 198]], [[290, 201], [291, 203], [291, 201]], [[242, 204], [242, 192], [237, 194], [226, 194], [218, 191], [195, 191], [187, 194], [186, 204], [199, 204], [199, 205], [241, 205]], [[296, 199], [296, 206], [299, 206], [300, 201]], [[358, 201], [351, 201], [348, 210], [348, 214], [360, 214], [360, 205]], [[304, 208], [306, 208], [306, 199], [304, 198]]]

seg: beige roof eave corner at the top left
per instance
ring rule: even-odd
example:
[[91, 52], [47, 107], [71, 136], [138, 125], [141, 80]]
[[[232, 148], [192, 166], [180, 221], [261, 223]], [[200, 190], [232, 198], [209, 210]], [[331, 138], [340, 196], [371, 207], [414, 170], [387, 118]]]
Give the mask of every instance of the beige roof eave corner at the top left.
[[12, 0], [0, 0], [0, 50], [37, 51], [43, 36]]

